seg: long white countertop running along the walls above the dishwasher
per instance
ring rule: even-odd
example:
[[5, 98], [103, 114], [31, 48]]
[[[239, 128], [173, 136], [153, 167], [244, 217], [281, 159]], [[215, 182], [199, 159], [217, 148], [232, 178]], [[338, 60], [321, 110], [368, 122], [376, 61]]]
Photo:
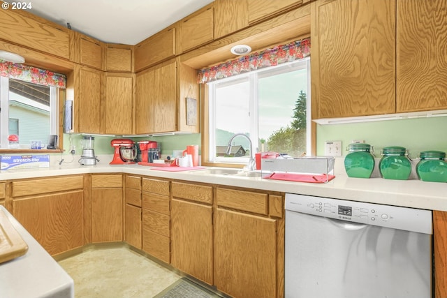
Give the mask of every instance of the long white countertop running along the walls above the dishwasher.
[[[361, 179], [349, 178], [344, 172], [343, 159], [335, 163], [335, 179], [327, 184], [300, 183], [262, 179], [261, 177], [233, 177], [200, 173], [200, 170], [188, 172], [163, 172], [151, 170], [142, 165], [109, 165], [111, 156], [99, 156], [101, 162], [96, 165], [79, 165], [78, 159], [71, 164], [52, 162], [47, 168], [29, 170], [1, 170], [0, 180], [50, 177], [68, 174], [86, 173], [124, 173], [152, 177], [163, 177], [185, 181], [196, 181], [224, 186], [256, 188], [265, 191], [316, 195], [327, 198], [390, 204], [402, 207], [447, 211], [447, 183], [424, 182], [415, 177], [409, 180], [388, 180], [378, 177]], [[414, 171], [413, 171], [414, 172]]]

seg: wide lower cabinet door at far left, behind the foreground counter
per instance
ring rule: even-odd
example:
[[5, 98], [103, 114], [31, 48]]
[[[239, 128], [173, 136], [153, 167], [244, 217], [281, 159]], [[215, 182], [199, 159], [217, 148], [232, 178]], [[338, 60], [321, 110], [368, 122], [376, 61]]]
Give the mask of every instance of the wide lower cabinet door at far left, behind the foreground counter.
[[13, 200], [13, 215], [50, 253], [84, 245], [83, 191]]

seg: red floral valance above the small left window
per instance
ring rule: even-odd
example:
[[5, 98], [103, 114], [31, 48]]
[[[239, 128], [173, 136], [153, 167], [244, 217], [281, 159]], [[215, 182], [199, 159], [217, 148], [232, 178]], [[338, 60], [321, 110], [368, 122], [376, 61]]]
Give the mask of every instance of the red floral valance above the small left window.
[[50, 87], [65, 88], [66, 86], [65, 75], [3, 60], [0, 60], [0, 76]]

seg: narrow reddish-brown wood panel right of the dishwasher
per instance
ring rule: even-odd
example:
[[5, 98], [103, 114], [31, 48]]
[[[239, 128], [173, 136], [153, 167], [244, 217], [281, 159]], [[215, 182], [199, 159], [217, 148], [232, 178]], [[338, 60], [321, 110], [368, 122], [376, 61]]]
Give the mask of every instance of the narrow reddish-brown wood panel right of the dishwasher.
[[447, 212], [433, 211], [434, 298], [447, 297]]

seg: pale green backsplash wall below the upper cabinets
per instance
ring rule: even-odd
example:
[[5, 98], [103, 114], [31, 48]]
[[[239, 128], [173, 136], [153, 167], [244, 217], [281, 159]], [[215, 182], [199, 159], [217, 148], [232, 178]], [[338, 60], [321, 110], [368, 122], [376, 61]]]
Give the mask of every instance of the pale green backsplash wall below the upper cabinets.
[[[71, 142], [76, 146], [76, 154], [81, 154], [81, 137], [78, 134], [64, 134], [65, 154], [68, 154]], [[96, 154], [113, 154], [110, 140], [115, 137], [95, 136]], [[138, 140], [161, 142], [162, 154], [171, 155], [173, 150], [186, 149], [186, 145], [200, 145], [200, 133], [186, 135], [167, 135], [163, 137], [130, 137]], [[416, 157], [420, 151], [447, 151], [447, 117], [399, 119], [374, 121], [356, 124], [317, 125], [316, 153], [324, 155], [325, 141], [342, 141], [343, 155], [352, 140], [365, 140], [374, 146], [376, 157], [380, 157], [383, 147], [402, 146], [409, 149], [410, 156]], [[200, 146], [201, 147], [201, 146]], [[201, 149], [201, 148], [200, 148]]]

